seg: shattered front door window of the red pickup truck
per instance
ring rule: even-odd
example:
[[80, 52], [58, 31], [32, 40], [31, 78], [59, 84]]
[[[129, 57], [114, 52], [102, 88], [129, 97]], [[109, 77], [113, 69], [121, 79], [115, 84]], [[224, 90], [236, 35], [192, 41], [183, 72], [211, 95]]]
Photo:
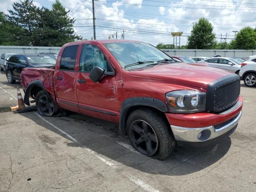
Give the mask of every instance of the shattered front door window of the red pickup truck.
[[79, 70], [82, 72], [91, 72], [94, 67], [101, 67], [107, 70], [107, 60], [101, 50], [94, 45], [83, 45]]

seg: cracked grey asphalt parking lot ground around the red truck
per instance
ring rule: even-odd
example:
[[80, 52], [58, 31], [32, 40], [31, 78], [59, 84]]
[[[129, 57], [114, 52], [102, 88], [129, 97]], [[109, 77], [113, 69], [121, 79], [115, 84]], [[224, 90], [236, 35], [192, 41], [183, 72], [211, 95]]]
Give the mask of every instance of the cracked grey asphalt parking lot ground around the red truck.
[[236, 131], [216, 146], [176, 147], [164, 161], [134, 151], [117, 124], [4, 112], [17, 105], [17, 86], [0, 73], [1, 192], [256, 191], [256, 88], [242, 81]]

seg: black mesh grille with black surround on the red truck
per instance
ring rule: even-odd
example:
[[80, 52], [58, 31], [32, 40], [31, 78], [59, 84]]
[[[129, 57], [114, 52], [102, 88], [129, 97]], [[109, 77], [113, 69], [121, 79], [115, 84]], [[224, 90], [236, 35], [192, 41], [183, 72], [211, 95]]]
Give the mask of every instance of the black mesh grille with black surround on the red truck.
[[238, 101], [240, 94], [240, 78], [230, 74], [208, 85], [206, 94], [206, 110], [220, 112], [230, 108]]

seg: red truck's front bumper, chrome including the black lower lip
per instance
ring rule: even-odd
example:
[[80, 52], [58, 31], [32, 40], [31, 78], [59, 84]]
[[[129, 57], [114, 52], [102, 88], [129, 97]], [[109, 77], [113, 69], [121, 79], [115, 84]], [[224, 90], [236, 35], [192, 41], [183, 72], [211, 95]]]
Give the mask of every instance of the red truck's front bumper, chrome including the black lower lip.
[[227, 122], [203, 128], [188, 128], [171, 125], [174, 138], [180, 146], [208, 146], [229, 136], [236, 129], [242, 111]]

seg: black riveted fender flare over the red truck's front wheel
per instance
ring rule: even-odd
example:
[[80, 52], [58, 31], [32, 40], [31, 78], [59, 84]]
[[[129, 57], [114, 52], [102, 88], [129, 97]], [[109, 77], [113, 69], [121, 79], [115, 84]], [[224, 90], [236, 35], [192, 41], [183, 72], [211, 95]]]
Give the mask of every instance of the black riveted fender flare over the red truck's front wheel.
[[119, 132], [123, 135], [127, 135], [127, 132], [126, 132], [127, 112], [129, 108], [134, 106], [150, 106], [161, 112], [169, 111], [168, 107], [166, 106], [166, 103], [156, 98], [132, 97], [132, 98], [125, 99], [121, 105], [120, 118], [119, 118]]

